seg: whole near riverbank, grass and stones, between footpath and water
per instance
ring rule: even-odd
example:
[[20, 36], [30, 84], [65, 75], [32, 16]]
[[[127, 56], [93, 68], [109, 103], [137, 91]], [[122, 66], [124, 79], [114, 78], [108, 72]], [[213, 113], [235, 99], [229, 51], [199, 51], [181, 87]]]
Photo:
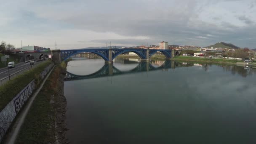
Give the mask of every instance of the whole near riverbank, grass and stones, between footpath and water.
[[16, 144], [65, 144], [66, 107], [64, 74], [66, 63], [53, 69], [38, 93], [16, 139]]

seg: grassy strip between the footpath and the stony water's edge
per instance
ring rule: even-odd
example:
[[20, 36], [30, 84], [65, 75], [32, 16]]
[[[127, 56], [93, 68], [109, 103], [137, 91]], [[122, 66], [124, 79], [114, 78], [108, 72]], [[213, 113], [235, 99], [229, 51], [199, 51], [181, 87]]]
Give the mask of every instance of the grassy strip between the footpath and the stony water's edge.
[[43, 88], [35, 98], [24, 120], [17, 144], [48, 144], [56, 141], [55, 111], [53, 101], [58, 94], [57, 85], [60, 75], [60, 66], [55, 67]]

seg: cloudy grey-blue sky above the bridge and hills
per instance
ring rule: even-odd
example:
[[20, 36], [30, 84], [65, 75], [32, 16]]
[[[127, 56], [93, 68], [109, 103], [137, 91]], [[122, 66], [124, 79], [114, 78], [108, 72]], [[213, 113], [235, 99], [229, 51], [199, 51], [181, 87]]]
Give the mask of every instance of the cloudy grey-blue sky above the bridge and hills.
[[[59, 49], [160, 41], [256, 48], [256, 0], [1, 0], [0, 41]], [[108, 44], [109, 45], [109, 44]]]

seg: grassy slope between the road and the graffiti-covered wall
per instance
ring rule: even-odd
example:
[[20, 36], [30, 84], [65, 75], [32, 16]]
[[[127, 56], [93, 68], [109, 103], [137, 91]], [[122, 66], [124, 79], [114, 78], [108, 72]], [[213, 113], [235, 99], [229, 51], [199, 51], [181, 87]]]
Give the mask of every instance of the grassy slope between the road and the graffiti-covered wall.
[[46, 61], [39, 64], [37, 67], [24, 72], [12, 80], [0, 86], [0, 111], [33, 79], [36, 80], [36, 85], [41, 82], [40, 73], [51, 64], [51, 61]]

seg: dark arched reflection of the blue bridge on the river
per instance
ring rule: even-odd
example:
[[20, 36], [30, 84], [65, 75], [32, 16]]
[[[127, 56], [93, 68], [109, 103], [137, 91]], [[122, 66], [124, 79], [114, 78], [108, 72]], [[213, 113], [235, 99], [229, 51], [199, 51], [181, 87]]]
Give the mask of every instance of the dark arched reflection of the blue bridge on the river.
[[105, 64], [101, 69], [97, 72], [94, 72], [90, 75], [75, 75], [70, 72], [67, 72], [65, 75], [65, 81], [70, 80], [82, 80], [82, 79], [90, 79], [90, 78], [97, 78], [97, 77], [107, 77], [107, 76], [115, 76], [115, 75], [124, 75], [136, 72], [148, 72], [153, 70], [160, 70], [160, 69], [171, 69], [178, 67], [179, 63], [176, 61], [165, 61], [160, 67], [154, 67], [149, 62], [140, 62], [137, 67], [128, 71], [121, 71], [117, 69], [113, 64]]

